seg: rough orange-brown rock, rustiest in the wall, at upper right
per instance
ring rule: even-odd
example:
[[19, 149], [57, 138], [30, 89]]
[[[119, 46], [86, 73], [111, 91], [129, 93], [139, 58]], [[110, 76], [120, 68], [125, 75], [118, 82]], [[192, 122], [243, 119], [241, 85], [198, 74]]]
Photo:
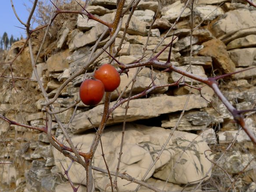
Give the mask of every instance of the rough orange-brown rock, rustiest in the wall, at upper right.
[[211, 56], [214, 64], [221, 68], [225, 73], [235, 71], [235, 64], [230, 59], [225, 44], [218, 39], [212, 39], [203, 43], [204, 48], [199, 51], [201, 56]]

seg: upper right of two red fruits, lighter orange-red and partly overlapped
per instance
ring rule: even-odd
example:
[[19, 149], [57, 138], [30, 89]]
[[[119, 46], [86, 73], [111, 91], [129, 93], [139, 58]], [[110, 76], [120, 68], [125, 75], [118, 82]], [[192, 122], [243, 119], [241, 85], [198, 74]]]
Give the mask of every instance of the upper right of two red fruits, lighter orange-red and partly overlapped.
[[110, 64], [102, 65], [95, 71], [94, 77], [102, 81], [106, 92], [114, 91], [120, 85], [120, 75]]

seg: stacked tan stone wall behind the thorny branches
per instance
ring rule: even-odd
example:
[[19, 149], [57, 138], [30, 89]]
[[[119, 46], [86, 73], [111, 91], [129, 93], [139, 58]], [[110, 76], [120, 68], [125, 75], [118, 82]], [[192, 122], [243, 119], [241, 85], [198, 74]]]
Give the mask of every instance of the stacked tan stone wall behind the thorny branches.
[[[115, 0], [93, 0], [87, 10], [103, 20], [111, 21], [116, 11], [115, 3]], [[194, 74], [209, 77], [256, 65], [256, 8], [233, 0], [195, 0], [194, 27], [197, 27], [193, 31], [192, 46], [190, 46], [191, 10], [189, 8], [184, 10], [173, 30], [167, 34], [186, 2], [170, 0], [162, 3], [163, 6], [151, 30], [147, 56], [144, 60], [150, 58], [158, 43], [162, 42], [156, 53], [170, 43], [174, 34], [178, 37], [173, 42], [171, 62], [183, 70], [186, 70], [191, 62]], [[147, 41], [148, 28], [157, 7], [157, 1], [141, 0], [134, 11], [134, 16], [131, 17], [122, 51], [118, 54], [120, 62], [131, 64], [140, 59]], [[125, 15], [122, 30], [125, 28], [127, 18], [128, 15]], [[93, 20], [88, 21], [81, 15], [77, 16], [74, 25], [70, 24], [72, 22], [74, 23], [74, 21], [65, 21], [58, 38], [54, 42], [51, 42], [51, 39], [47, 41], [46, 47], [51, 47], [51, 54], [47, 51], [43, 52], [36, 65], [49, 98], [54, 96], [61, 83], [84, 65], [89, 58], [91, 47], [106, 30], [105, 26]], [[115, 39], [116, 45], [120, 42], [122, 34], [123, 31], [120, 31]], [[40, 34], [36, 34], [32, 37], [38, 46], [39, 36]], [[107, 40], [109, 37], [106, 36], [99, 45], [103, 46]], [[13, 59], [24, 42], [21, 40], [13, 43], [8, 53], [0, 53], [3, 55], [1, 58], [5, 58], [5, 62]], [[100, 50], [98, 48], [96, 53]], [[37, 50], [34, 51], [36, 53]], [[164, 51], [159, 57], [160, 61], [166, 61], [168, 53], [169, 50]], [[107, 61], [108, 55], [103, 53], [88, 68], [87, 76], [93, 74], [97, 66]], [[1, 65], [2, 69], [9, 70], [9, 65]], [[115, 104], [118, 92], [125, 90], [133, 78], [135, 69], [130, 69], [128, 74], [129, 77], [125, 74], [121, 75], [120, 87], [118, 91], [112, 93], [111, 106]], [[28, 47], [13, 64], [13, 76], [35, 79], [29, 62]], [[84, 74], [76, 77], [65, 87], [53, 104], [55, 109], [66, 108], [79, 99], [78, 91], [83, 77]], [[155, 79], [155, 84], [164, 85], [179, 80], [181, 75], [172, 71], [164, 72], [161, 68], [151, 70], [145, 67], [138, 74], [132, 93], [141, 93], [152, 86], [152, 77]], [[255, 105], [254, 77], [256, 70], [253, 68], [219, 81], [224, 95], [240, 110], [250, 109]], [[184, 78], [184, 81], [191, 83], [189, 78]], [[2, 85], [1, 115], [19, 123], [45, 127], [45, 99], [36, 82], [18, 79], [14, 85], [16, 89], [12, 89], [12, 80], [1, 78], [0, 84]], [[197, 89], [190, 90], [189, 87], [163, 87], [140, 99], [130, 101], [126, 115], [128, 123], [120, 173], [128, 173], [138, 180], [146, 174], [147, 183], [166, 192], [182, 191], [183, 188], [186, 188], [185, 191], [195, 189], [198, 192], [225, 191], [230, 186], [237, 191], [255, 191], [256, 151], [252, 142], [234, 123], [232, 115], [209, 87], [203, 86], [198, 81], [193, 81], [193, 86], [202, 87], [201, 93]], [[125, 97], [128, 96], [131, 85], [126, 88]], [[184, 115], [176, 127], [188, 98]], [[76, 110], [70, 108], [58, 115], [61, 123], [67, 127], [68, 133], [72, 136], [75, 146], [83, 152], [90, 148], [95, 134], [93, 127], [99, 125], [102, 111], [103, 101], [95, 107], [80, 102]], [[75, 116], [70, 122], [74, 112]], [[250, 130], [256, 134], [255, 112], [247, 112], [245, 117]], [[119, 106], [112, 112], [102, 136], [102, 146], [110, 171], [116, 169], [124, 118], [125, 106]], [[175, 131], [174, 127], [176, 127]], [[60, 140], [63, 138], [55, 120], [52, 134]], [[0, 162], [11, 163], [0, 164], [1, 192], [72, 191], [62, 168], [64, 166], [67, 169], [71, 162], [53, 149], [44, 133], [24, 127], [9, 126], [0, 120], [0, 141]], [[233, 145], [227, 149], [232, 142]], [[166, 147], [159, 160], [148, 171], [165, 144]], [[248, 167], [244, 169], [249, 162]], [[93, 166], [106, 169], [100, 146], [94, 156]], [[78, 191], [84, 191], [86, 182], [83, 167], [73, 163], [69, 174], [72, 182], [82, 183]], [[108, 175], [93, 171], [93, 176], [96, 179], [96, 190], [103, 192], [109, 184]], [[126, 180], [118, 179], [119, 191], [135, 191], [138, 187], [135, 183], [128, 183]], [[106, 190], [111, 191], [111, 188], [107, 187]], [[145, 187], [140, 187], [138, 190], [138, 192], [148, 191], [150, 190]]]

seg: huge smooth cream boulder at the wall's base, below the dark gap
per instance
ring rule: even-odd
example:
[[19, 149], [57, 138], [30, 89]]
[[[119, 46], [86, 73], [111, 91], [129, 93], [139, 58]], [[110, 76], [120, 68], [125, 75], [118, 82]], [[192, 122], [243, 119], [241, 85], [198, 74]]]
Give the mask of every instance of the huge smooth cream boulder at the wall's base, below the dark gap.
[[[104, 154], [106, 161], [108, 162], [109, 170], [115, 171], [117, 161], [119, 145], [121, 142], [120, 126], [115, 126], [114, 128], [107, 129], [103, 133], [101, 140], [104, 147]], [[127, 124], [125, 132], [125, 141], [123, 146], [123, 153], [120, 164], [120, 172], [126, 171], [132, 177], [140, 179], [146, 173], [148, 167], [153, 163], [157, 157], [157, 153], [161, 149], [162, 145], [167, 141], [171, 130], [166, 130], [160, 127], [146, 127], [143, 125]], [[89, 150], [90, 142], [93, 140], [95, 134], [86, 134], [81, 136], [73, 137], [72, 141], [75, 145], [81, 145], [81, 150], [86, 152]], [[187, 183], [191, 179], [202, 179], [205, 173], [211, 167], [211, 163], [204, 157], [204, 151], [209, 149], [206, 142], [202, 138], [192, 133], [185, 133], [180, 131], [175, 131], [173, 136], [167, 142], [166, 150], [160, 156], [160, 159], [153, 166], [153, 168], [148, 173], [147, 178], [149, 178], [157, 168], [155, 177], [160, 177], [165, 180], [168, 174], [173, 172], [173, 177], [170, 177], [169, 182], [172, 183]], [[186, 147], [184, 151], [183, 148]], [[67, 167], [70, 164], [70, 160], [64, 158], [64, 156], [59, 156], [59, 152], [54, 149], [55, 164], [63, 172], [61, 163]], [[94, 166], [105, 168], [105, 164], [102, 162], [102, 151], [100, 146], [96, 150], [94, 155]], [[179, 158], [181, 156], [181, 158]], [[169, 164], [177, 162], [182, 162], [177, 164], [176, 167], [172, 168]], [[168, 167], [168, 168], [167, 168]], [[201, 167], [196, 170], [196, 167]], [[179, 174], [179, 173], [183, 174]], [[73, 178], [74, 183], [82, 182], [83, 169], [81, 165], [74, 163], [69, 171], [70, 177]], [[105, 189], [106, 185], [109, 183], [109, 178], [107, 175], [94, 172], [96, 178], [96, 187], [101, 191]], [[192, 174], [193, 177], [189, 175]], [[183, 177], [183, 176], [186, 177]], [[85, 181], [82, 182], [85, 184]], [[118, 178], [118, 189], [121, 192], [134, 191], [138, 186], [135, 183], [131, 183], [128, 186], [123, 186], [127, 181]], [[109, 191], [110, 189], [108, 189]]]

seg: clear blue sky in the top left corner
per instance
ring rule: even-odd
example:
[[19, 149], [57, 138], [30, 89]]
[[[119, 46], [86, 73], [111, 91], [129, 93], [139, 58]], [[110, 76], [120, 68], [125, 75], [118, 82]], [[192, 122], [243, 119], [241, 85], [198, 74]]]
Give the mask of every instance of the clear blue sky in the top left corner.
[[[19, 15], [19, 18], [26, 23], [26, 19], [29, 16], [29, 12], [26, 9], [26, 6], [23, 4], [26, 4], [28, 6], [32, 6], [32, 3], [29, 2], [29, 0], [13, 0], [14, 7], [16, 9], [17, 14]], [[6, 31], [8, 34], [8, 37], [10, 39], [11, 34], [13, 34], [13, 37], [16, 39], [17, 37], [20, 38], [22, 35], [23, 37], [26, 37], [26, 31], [18, 27], [24, 26], [18, 21], [16, 18], [10, 0], [1, 0], [0, 3], [0, 37], [3, 36], [3, 33]]]

